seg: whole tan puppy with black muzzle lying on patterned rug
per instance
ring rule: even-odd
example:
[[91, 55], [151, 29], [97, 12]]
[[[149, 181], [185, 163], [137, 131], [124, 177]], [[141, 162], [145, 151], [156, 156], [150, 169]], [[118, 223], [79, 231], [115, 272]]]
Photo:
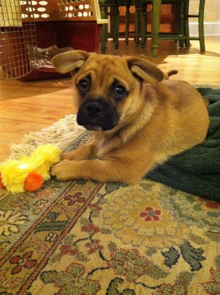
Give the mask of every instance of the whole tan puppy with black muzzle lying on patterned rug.
[[204, 99], [190, 84], [138, 57], [70, 51], [53, 58], [71, 71], [77, 123], [91, 143], [64, 153], [51, 169], [58, 181], [137, 183], [169, 157], [202, 142], [209, 126]]

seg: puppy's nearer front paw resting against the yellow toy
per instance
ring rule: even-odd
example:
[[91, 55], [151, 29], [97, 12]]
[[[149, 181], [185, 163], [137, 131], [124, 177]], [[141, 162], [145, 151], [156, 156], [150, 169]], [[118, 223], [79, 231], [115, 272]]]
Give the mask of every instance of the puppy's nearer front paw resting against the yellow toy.
[[71, 180], [72, 178], [73, 163], [69, 160], [60, 161], [52, 165], [50, 175], [57, 181]]

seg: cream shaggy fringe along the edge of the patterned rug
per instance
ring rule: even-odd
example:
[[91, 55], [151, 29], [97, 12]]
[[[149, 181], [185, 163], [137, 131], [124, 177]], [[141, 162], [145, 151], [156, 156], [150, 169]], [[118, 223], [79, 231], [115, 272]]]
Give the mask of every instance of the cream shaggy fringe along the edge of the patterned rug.
[[24, 135], [20, 144], [11, 144], [11, 159], [21, 155], [30, 155], [39, 145], [54, 144], [63, 151], [76, 137], [85, 131], [76, 122], [76, 115], [69, 114], [55, 122], [52, 126], [43, 128], [40, 132], [30, 132]]

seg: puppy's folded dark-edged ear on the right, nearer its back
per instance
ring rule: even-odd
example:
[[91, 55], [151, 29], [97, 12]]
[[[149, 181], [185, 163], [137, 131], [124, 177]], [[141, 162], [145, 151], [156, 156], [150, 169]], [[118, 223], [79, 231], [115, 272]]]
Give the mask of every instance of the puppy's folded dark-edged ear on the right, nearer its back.
[[128, 68], [133, 74], [151, 84], [159, 83], [164, 78], [163, 72], [148, 60], [138, 57], [129, 57], [127, 58], [127, 62]]

